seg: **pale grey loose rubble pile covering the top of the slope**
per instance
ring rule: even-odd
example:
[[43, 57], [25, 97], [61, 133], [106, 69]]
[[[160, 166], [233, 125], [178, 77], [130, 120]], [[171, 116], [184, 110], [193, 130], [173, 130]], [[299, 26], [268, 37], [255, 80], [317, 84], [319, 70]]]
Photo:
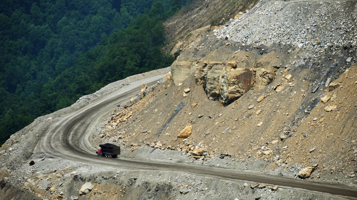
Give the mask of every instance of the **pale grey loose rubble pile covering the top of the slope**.
[[354, 1], [264, 0], [216, 30], [215, 36], [246, 44], [282, 43], [315, 49], [330, 45], [356, 47], [355, 4]]

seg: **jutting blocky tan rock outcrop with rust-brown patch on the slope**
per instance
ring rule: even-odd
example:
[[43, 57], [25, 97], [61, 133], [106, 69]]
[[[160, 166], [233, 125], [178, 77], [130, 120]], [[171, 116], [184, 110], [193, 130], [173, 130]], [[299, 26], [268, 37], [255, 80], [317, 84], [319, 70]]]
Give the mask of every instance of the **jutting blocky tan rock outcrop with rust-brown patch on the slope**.
[[202, 84], [208, 99], [223, 105], [240, 98], [253, 87], [262, 89], [270, 84], [275, 72], [264, 68], [237, 68], [235, 61], [204, 62], [196, 69], [196, 83]]

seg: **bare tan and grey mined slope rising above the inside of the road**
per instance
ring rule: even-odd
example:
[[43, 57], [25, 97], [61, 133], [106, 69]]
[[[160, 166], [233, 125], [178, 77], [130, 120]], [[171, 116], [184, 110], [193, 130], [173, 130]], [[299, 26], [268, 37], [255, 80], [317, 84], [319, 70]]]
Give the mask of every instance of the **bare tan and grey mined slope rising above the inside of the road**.
[[356, 11], [355, 1], [261, 1], [191, 43], [167, 81], [116, 108], [93, 137], [131, 151], [176, 150], [197, 162], [262, 160], [255, 170], [296, 177], [293, 164], [315, 166], [309, 179], [350, 184]]

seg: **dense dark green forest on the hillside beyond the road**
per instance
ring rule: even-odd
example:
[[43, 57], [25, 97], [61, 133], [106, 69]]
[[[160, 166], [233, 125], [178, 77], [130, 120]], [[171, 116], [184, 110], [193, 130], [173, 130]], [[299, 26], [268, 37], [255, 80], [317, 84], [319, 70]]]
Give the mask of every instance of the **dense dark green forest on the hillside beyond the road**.
[[83, 95], [170, 66], [163, 21], [191, 1], [2, 0], [0, 145]]

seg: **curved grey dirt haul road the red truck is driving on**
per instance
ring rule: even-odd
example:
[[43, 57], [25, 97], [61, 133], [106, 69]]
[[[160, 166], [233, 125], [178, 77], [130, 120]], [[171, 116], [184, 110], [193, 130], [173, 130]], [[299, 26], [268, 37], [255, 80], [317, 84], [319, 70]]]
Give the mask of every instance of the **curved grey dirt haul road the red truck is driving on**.
[[[357, 199], [357, 188], [327, 183], [314, 183], [289, 177], [267, 175], [243, 170], [222, 169], [202, 165], [188, 165], [170, 162], [153, 162], [129, 158], [108, 159], [97, 157], [87, 138], [105, 115], [110, 113], [115, 105], [127, 102], [138, 94], [141, 84], [154, 84], [165, 74], [135, 81], [81, 109], [62, 117], [54, 123], [40, 141], [41, 151], [58, 158], [72, 160], [90, 165], [101, 165], [112, 168], [146, 169], [146, 170], [174, 170], [218, 179], [245, 180], [257, 183], [280, 185], [295, 189], [342, 195], [348, 199]], [[96, 124], [97, 123], [97, 124]]]

